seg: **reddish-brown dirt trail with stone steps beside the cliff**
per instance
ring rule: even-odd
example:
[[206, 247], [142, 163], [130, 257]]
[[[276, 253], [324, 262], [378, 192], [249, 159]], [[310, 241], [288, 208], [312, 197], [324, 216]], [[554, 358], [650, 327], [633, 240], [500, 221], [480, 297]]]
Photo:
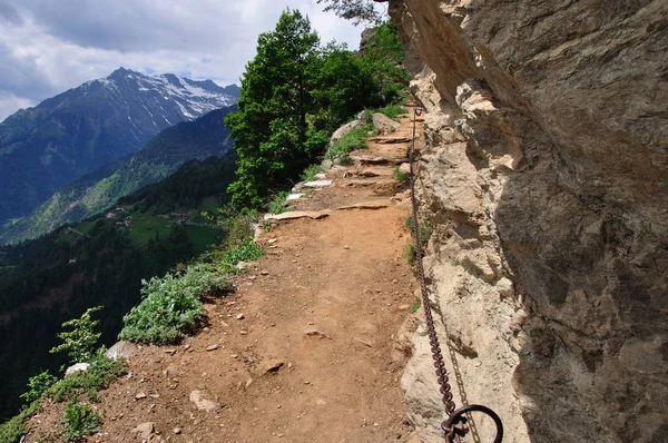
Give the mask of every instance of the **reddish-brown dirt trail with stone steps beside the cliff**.
[[[404, 116], [385, 138], [411, 131]], [[259, 239], [267, 255], [236, 278], [233, 295], [207, 305], [205, 332], [178, 347], [148, 346], [134, 356], [131, 375], [100, 393], [96, 407], [104, 411], [104, 430], [91, 440], [412, 439], [399, 380], [410, 353], [400, 329], [413, 321], [407, 307], [415, 282], [403, 257], [410, 238], [406, 185], [392, 176], [406, 147], [370, 141], [369, 150], [352, 157], [389, 164], [357, 159], [335, 168], [333, 187], [298, 200], [298, 210], [332, 211], [274, 225]], [[338, 209], [369, 201], [376, 208]], [[212, 345], [217, 348], [206, 351]], [[220, 406], [197, 410], [190, 401], [196, 390]], [[55, 429], [63, 408], [51, 405], [35, 416], [27, 441]], [[155, 424], [150, 436], [132, 432], [145, 422]]]

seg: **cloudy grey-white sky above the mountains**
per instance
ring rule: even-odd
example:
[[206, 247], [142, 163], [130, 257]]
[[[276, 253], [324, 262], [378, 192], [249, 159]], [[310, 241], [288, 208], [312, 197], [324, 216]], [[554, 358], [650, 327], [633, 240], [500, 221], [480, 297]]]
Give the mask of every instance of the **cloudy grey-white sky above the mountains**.
[[120, 66], [238, 83], [286, 7], [357, 47], [362, 28], [315, 0], [0, 0], [0, 121]]

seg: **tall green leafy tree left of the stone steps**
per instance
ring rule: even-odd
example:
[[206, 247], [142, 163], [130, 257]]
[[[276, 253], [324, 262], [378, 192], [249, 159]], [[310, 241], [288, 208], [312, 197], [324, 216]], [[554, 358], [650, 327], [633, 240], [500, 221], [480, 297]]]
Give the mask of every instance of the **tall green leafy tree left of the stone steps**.
[[307, 141], [312, 70], [320, 39], [307, 17], [283, 12], [273, 32], [257, 39], [246, 66], [239, 112], [225, 119], [239, 156], [233, 201], [258, 207], [272, 190], [295, 179], [316, 156]]

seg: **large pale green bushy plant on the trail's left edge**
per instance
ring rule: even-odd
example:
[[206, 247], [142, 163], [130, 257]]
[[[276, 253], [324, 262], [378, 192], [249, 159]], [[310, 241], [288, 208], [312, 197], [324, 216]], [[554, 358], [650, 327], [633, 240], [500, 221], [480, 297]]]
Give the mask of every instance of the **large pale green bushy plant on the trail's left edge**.
[[124, 318], [120, 339], [173, 344], [195, 331], [205, 318], [202, 297], [229, 291], [229, 275], [217, 274], [210, 264], [189, 265], [181, 274], [167, 273], [141, 282], [144, 299]]

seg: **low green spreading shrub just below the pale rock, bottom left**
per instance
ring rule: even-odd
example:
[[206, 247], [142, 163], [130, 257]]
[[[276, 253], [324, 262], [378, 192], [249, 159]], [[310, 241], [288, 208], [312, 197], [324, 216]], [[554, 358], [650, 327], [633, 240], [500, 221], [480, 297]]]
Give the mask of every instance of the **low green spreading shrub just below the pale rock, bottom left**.
[[104, 390], [111, 381], [126, 373], [126, 367], [127, 364], [124, 361], [107, 358], [100, 351], [90, 363], [88, 371], [77, 372], [56, 382], [45, 392], [45, 395], [56, 402], [63, 402], [84, 394], [94, 401], [97, 398], [98, 391]]

